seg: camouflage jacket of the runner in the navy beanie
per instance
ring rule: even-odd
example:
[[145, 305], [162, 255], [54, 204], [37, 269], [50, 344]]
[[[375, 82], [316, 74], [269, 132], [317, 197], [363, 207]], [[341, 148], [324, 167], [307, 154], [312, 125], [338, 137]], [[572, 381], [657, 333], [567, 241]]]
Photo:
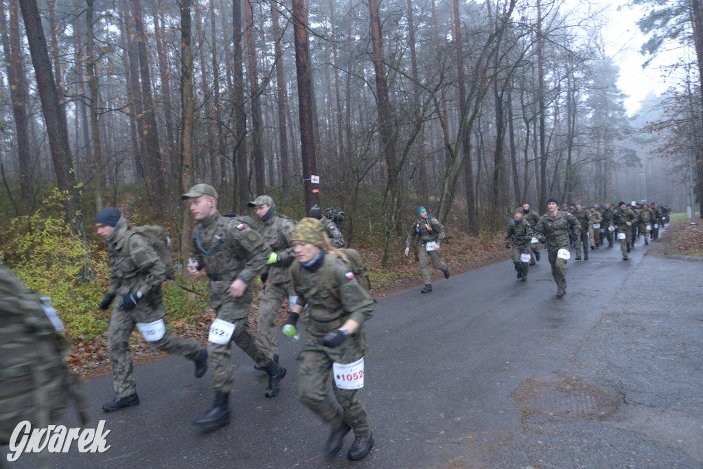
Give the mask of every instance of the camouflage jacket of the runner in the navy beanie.
[[108, 261], [112, 267], [108, 294], [141, 291], [144, 297], [160, 295], [161, 283], [166, 280], [166, 266], [145, 236], [129, 230], [124, 217], [120, 217], [108, 238]]

